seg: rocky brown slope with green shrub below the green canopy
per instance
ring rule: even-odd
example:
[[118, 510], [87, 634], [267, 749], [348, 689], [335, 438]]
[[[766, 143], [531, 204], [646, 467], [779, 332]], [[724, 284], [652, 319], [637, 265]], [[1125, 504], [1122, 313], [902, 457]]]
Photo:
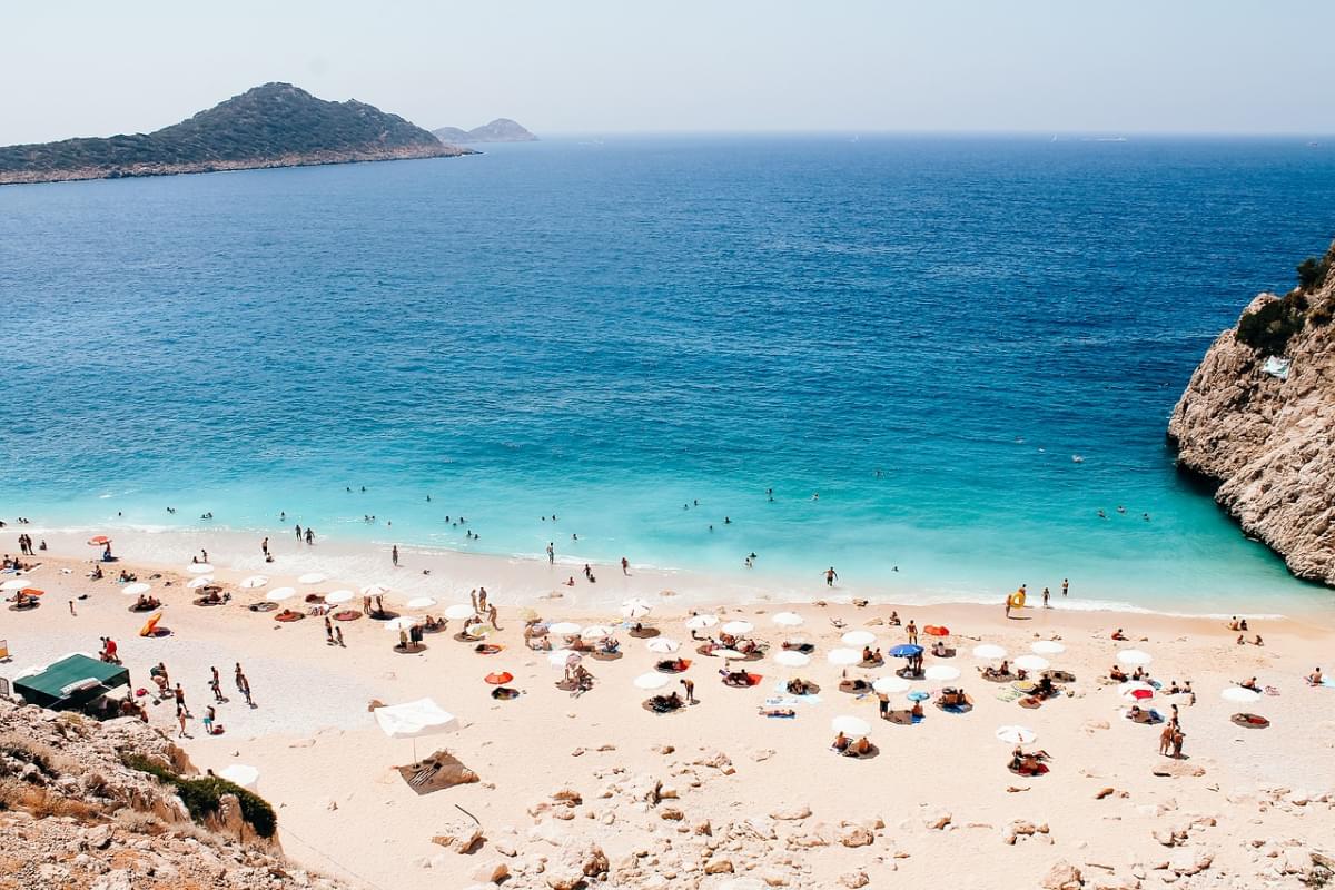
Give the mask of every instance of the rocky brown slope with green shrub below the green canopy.
[[192, 773], [138, 718], [99, 723], [0, 699], [0, 886], [342, 887], [283, 858], [260, 798]]

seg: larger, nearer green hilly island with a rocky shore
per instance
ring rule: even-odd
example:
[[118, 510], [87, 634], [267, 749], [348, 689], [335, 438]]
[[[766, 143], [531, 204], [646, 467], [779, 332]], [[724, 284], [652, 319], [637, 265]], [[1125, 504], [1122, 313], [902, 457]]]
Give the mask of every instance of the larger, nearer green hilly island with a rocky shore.
[[151, 133], [0, 148], [0, 184], [471, 153], [372, 105], [270, 83]]

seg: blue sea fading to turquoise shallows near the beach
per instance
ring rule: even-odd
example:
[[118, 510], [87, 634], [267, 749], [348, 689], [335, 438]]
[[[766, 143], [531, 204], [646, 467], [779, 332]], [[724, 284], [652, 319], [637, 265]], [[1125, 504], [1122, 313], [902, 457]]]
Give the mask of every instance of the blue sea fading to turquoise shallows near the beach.
[[0, 515], [1322, 606], [1164, 427], [1332, 208], [1306, 139], [553, 139], [5, 187]]

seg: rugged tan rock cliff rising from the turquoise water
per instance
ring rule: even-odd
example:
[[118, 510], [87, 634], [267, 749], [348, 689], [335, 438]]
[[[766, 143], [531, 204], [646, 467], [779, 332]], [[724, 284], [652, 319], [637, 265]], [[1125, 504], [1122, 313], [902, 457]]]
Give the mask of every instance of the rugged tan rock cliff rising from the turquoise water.
[[1335, 246], [1300, 287], [1262, 294], [1173, 408], [1179, 466], [1299, 578], [1335, 586]]

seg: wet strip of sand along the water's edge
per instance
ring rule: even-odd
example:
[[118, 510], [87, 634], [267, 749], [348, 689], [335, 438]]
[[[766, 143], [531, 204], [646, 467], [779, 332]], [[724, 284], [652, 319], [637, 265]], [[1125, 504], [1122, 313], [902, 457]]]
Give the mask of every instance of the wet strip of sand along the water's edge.
[[[610, 607], [633, 595], [657, 595], [661, 590], [672, 590], [676, 603], [681, 607], [712, 606], [728, 603], [752, 606], [765, 603], [812, 603], [825, 600], [848, 604], [854, 599], [865, 599], [874, 606], [896, 606], [902, 608], [939, 608], [969, 606], [996, 608], [1000, 611], [1005, 594], [918, 594], [904, 596], [904, 591], [888, 592], [876, 584], [850, 584], [842, 580], [834, 587], [826, 587], [820, 580], [793, 583], [780, 571], [753, 568], [734, 572], [702, 572], [689, 568], [665, 568], [657, 566], [631, 564], [631, 575], [622, 575], [619, 566], [589, 562], [598, 579], [589, 584], [582, 576], [585, 560], [557, 555], [555, 566], [546, 560], [522, 554], [498, 555], [469, 552], [441, 546], [400, 544], [402, 566], [390, 564], [390, 542], [362, 540], [351, 538], [320, 536], [314, 546], [299, 544], [288, 536], [291, 527], [283, 526], [268, 532], [275, 563], [264, 563], [259, 551], [259, 540], [266, 532], [215, 530], [146, 530], [115, 528], [113, 526], [61, 527], [53, 530], [41, 524], [13, 526], [5, 531], [44, 538], [51, 554], [79, 559], [89, 548], [85, 540], [93, 534], [109, 534], [115, 554], [125, 559], [171, 571], [190, 562], [200, 548], [210, 550], [215, 566], [244, 574], [267, 574], [280, 576], [300, 575], [318, 567], [326, 574], [336, 574], [354, 586], [384, 583], [392, 575], [394, 586], [407, 595], [434, 595], [451, 584], [459, 586], [459, 578], [491, 578], [481, 582], [498, 603], [519, 606], [543, 602], [561, 602], [566, 606]], [[422, 570], [430, 574], [423, 575]], [[331, 571], [332, 570], [332, 571]], [[818, 572], [813, 572], [818, 574]], [[575, 586], [565, 580], [574, 578]], [[466, 582], [465, 582], [466, 583]], [[1000, 587], [1000, 584], [999, 584]], [[1041, 586], [1031, 586], [1031, 602], [1039, 602]], [[451, 590], [451, 592], [458, 592]], [[449, 594], [447, 594], [449, 595]], [[1335, 600], [1328, 604], [1314, 602], [1311, 608], [1272, 610], [1255, 608], [1227, 611], [1191, 611], [1184, 608], [1153, 608], [1129, 600], [1081, 599], [1079, 584], [1076, 595], [1063, 599], [1060, 590], [1052, 594], [1053, 608], [1064, 612], [1120, 614], [1133, 616], [1161, 616], [1168, 619], [1227, 619], [1243, 615], [1250, 619], [1288, 619], [1335, 630]], [[1264, 598], [1259, 600], [1263, 603]]]

